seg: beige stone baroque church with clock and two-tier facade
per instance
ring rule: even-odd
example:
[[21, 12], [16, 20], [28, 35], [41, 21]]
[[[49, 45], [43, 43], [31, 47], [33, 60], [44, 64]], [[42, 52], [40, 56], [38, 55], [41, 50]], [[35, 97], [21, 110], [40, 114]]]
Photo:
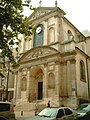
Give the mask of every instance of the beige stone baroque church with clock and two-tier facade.
[[85, 37], [57, 7], [38, 7], [27, 22], [32, 36], [20, 43], [13, 100], [16, 109], [36, 104], [76, 108], [90, 101], [90, 37]]

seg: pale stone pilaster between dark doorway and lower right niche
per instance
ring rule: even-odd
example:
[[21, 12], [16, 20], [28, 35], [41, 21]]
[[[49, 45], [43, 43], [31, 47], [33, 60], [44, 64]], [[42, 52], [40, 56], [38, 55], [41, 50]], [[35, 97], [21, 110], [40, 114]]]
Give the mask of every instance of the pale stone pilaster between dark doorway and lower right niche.
[[43, 98], [47, 97], [48, 97], [48, 69], [47, 65], [44, 65]]

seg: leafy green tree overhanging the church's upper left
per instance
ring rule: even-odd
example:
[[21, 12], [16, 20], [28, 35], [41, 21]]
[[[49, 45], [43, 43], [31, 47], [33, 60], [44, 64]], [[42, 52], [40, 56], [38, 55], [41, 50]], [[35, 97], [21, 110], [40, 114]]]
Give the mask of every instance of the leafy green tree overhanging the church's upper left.
[[[11, 48], [15, 44], [19, 44], [19, 34], [29, 35], [31, 34], [31, 27], [28, 22], [25, 22], [26, 18], [23, 15], [23, 7], [27, 6], [31, 10], [31, 0], [0, 0], [0, 50], [2, 60], [5, 57], [10, 62], [14, 61], [14, 56]], [[18, 40], [18, 41], [16, 41]], [[18, 51], [18, 48], [16, 48]]]

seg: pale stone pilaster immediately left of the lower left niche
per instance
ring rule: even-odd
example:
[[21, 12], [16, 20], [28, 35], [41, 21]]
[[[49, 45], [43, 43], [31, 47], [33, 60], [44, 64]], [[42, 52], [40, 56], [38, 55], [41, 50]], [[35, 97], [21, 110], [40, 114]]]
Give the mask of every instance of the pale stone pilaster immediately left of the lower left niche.
[[17, 83], [17, 99], [21, 98], [21, 70], [18, 72], [18, 83]]

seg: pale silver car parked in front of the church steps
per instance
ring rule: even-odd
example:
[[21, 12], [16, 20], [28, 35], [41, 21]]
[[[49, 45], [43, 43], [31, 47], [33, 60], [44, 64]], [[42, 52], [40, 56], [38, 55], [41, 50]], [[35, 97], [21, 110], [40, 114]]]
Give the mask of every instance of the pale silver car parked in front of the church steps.
[[50, 107], [43, 109], [38, 115], [26, 120], [76, 120], [77, 113], [69, 107]]

